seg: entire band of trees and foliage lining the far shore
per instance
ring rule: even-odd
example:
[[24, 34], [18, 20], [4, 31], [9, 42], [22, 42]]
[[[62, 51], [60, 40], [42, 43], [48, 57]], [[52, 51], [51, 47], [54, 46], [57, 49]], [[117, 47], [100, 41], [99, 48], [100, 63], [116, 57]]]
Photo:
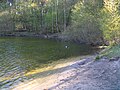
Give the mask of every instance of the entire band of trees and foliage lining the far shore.
[[[9, 0], [8, 0], [9, 1]], [[14, 0], [0, 3], [1, 31], [60, 33], [89, 44], [120, 42], [119, 0]]]

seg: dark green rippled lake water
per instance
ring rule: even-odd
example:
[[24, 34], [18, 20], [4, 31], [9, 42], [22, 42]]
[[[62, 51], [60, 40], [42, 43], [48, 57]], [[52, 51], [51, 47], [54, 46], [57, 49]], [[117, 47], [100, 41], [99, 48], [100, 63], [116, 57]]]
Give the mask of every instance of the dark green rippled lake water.
[[7, 90], [15, 83], [28, 79], [25, 74], [31, 70], [45, 68], [60, 59], [91, 55], [95, 51], [90, 46], [69, 42], [2, 37], [0, 38], [0, 90]]

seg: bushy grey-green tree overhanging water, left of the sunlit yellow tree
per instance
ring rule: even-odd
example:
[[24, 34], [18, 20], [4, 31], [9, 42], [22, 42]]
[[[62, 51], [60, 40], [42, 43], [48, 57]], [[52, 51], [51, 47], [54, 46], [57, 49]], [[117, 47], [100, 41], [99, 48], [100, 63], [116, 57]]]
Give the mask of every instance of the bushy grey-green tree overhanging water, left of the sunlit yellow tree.
[[72, 9], [71, 25], [65, 33], [75, 41], [91, 44], [102, 43], [99, 12], [102, 5], [79, 1]]

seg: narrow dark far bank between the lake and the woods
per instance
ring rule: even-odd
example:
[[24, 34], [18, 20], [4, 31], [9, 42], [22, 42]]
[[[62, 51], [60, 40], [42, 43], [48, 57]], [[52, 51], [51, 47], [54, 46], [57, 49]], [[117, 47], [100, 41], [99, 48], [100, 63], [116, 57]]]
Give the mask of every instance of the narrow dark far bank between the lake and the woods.
[[[42, 33], [35, 33], [35, 32], [13, 32], [13, 33], [3, 33], [0, 34], [0, 37], [34, 37], [34, 38], [41, 38], [41, 39], [52, 39], [58, 41], [65, 41], [65, 42], [72, 42], [76, 44], [85, 44], [91, 46], [102, 46], [102, 43], [87, 43], [87, 42], [80, 42], [78, 40], [69, 40], [67, 36], [62, 35], [61, 33], [53, 33], [53, 34], [42, 34]], [[108, 44], [105, 44], [105, 46]]]

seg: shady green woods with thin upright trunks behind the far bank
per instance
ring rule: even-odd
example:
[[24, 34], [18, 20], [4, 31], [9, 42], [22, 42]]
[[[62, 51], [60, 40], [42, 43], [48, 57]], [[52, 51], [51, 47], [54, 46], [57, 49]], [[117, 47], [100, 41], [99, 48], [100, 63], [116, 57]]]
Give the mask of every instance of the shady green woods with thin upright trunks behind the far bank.
[[[1, 18], [9, 14], [9, 18], [11, 18], [9, 21], [13, 21], [14, 30], [42, 33], [61, 32], [64, 25], [66, 27], [69, 22], [71, 6], [68, 7], [68, 5], [73, 3], [67, 3], [66, 0], [17, 0], [12, 6], [1, 3], [1, 10], [4, 8], [4, 11], [1, 11]], [[4, 12], [6, 13], [2, 14]]]

